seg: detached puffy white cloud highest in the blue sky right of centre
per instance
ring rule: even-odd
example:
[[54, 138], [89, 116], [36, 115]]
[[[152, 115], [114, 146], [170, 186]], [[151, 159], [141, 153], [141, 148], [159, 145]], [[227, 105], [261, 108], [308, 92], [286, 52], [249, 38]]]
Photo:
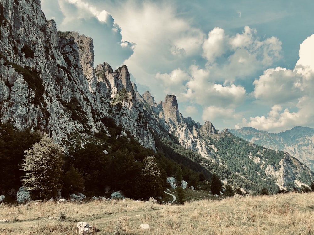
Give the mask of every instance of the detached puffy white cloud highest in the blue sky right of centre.
[[[214, 28], [203, 44], [208, 69], [218, 81], [247, 79], [281, 58], [281, 42], [276, 37], [260, 40], [257, 30], [245, 26], [241, 34], [226, 35]], [[215, 59], [219, 58], [219, 63]]]

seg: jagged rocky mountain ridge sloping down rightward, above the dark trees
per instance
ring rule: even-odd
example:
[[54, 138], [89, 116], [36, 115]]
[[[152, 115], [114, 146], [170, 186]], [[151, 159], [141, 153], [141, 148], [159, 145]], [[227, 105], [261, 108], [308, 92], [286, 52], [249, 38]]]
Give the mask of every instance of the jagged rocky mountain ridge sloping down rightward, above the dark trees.
[[122, 128], [116, 138], [131, 136], [155, 152], [170, 149], [169, 158], [186, 156], [187, 164], [195, 161], [249, 192], [314, 180], [289, 154], [184, 118], [174, 95], [158, 104], [148, 91], [140, 95], [126, 66], [113, 70], [104, 62], [93, 68], [92, 39], [58, 32], [39, 0], [0, 0], [0, 9], [1, 123], [47, 132], [67, 149], [77, 137], [110, 136], [113, 119]]

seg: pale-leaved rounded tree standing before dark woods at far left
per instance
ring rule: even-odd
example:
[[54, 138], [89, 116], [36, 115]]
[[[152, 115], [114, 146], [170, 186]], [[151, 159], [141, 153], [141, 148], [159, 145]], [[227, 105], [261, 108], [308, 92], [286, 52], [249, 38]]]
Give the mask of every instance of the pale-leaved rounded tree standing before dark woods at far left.
[[25, 172], [23, 186], [30, 190], [34, 199], [49, 199], [57, 196], [61, 189], [63, 153], [59, 144], [48, 134], [43, 134], [32, 149], [24, 152], [22, 168]]

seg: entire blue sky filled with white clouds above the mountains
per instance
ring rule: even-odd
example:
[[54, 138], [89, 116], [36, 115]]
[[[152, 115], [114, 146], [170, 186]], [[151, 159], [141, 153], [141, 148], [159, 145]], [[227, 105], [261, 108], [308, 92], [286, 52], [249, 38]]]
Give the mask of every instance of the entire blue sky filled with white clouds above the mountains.
[[127, 65], [138, 91], [174, 94], [216, 129], [314, 128], [312, 0], [41, 0], [58, 30], [94, 41], [94, 66]]

